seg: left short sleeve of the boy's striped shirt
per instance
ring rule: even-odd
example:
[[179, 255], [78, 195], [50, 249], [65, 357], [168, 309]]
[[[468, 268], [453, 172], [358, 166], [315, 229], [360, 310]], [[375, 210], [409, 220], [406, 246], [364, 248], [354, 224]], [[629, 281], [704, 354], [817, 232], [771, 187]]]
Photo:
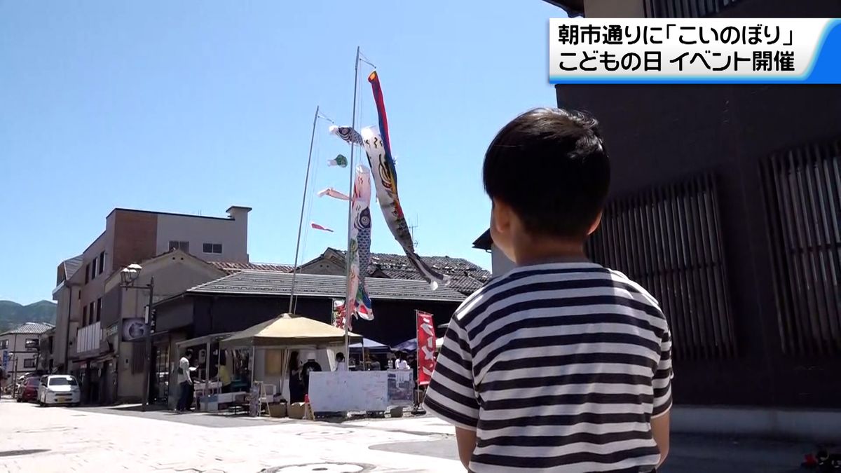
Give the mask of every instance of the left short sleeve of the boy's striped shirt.
[[424, 396], [424, 408], [458, 428], [476, 430], [479, 402], [473, 387], [473, 358], [467, 331], [453, 317], [435, 371]]

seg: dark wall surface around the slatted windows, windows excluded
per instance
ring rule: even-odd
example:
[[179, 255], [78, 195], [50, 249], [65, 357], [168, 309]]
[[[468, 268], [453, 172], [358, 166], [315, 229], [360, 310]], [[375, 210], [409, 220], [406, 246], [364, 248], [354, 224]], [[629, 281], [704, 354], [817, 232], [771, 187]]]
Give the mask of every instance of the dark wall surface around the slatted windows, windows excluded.
[[675, 357], [675, 400], [838, 407], [841, 359], [783, 352], [760, 168], [774, 153], [841, 137], [841, 87], [559, 85], [557, 93], [560, 106], [600, 120], [611, 199], [705, 174], [717, 184], [736, 350]]

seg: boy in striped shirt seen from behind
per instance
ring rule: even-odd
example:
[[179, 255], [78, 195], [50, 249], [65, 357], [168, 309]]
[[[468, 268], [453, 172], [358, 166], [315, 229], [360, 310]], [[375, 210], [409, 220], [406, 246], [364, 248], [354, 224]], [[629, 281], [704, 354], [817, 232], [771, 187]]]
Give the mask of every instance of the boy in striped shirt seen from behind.
[[534, 109], [485, 154], [491, 237], [517, 268], [452, 316], [424, 402], [469, 471], [653, 471], [669, 452], [663, 313], [584, 256], [610, 183], [597, 125]]

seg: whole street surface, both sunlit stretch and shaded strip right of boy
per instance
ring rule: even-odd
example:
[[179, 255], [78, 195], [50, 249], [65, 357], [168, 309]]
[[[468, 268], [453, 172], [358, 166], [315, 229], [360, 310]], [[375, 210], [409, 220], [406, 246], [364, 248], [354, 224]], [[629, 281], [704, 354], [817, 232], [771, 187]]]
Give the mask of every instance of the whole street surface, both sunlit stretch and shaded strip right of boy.
[[[345, 423], [0, 401], [0, 473], [463, 471], [434, 417]], [[793, 473], [812, 445], [675, 435], [666, 473]]]

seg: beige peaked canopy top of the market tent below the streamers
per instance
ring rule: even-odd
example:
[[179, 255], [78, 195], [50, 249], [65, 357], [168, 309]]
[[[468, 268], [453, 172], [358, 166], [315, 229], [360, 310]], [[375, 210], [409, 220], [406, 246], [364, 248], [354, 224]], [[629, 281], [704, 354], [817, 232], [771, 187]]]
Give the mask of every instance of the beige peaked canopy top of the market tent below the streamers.
[[[362, 342], [362, 337], [350, 333], [350, 343]], [[220, 342], [221, 348], [299, 347], [333, 345], [345, 342], [345, 331], [324, 322], [282, 314], [270, 321], [258, 323], [236, 332]]]

